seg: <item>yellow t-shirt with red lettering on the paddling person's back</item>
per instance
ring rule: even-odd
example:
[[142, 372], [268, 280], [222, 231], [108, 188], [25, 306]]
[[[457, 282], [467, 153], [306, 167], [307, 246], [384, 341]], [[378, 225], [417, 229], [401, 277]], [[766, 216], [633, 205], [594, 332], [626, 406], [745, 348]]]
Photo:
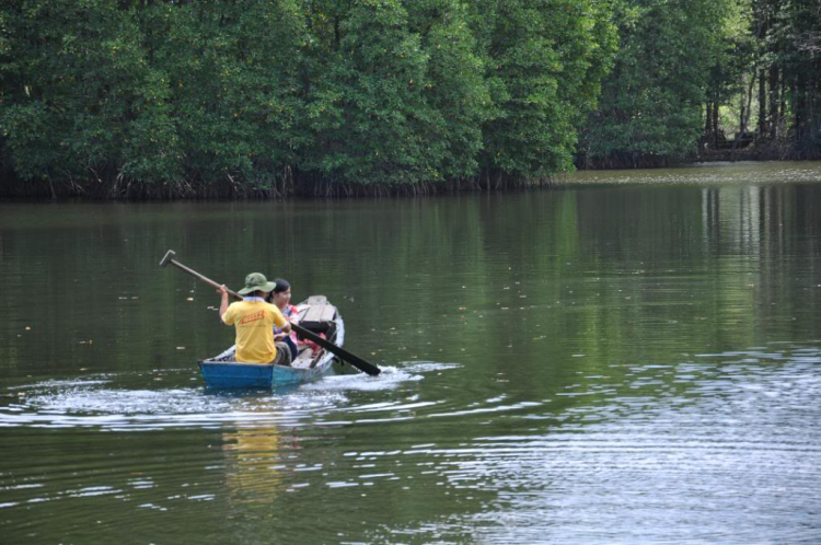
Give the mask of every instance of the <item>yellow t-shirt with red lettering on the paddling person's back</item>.
[[288, 321], [275, 305], [264, 301], [231, 303], [222, 322], [236, 329], [236, 361], [270, 363], [277, 356], [274, 345], [274, 326], [282, 327]]

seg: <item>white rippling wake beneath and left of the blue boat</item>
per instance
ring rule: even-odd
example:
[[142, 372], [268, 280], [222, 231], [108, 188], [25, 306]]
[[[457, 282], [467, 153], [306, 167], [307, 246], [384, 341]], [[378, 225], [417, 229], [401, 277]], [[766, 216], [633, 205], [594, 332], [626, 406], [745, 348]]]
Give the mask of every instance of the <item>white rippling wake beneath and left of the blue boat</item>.
[[[0, 428], [102, 428], [155, 430], [224, 426], [299, 426], [350, 409], [349, 395], [420, 381], [424, 374], [459, 366], [414, 362], [384, 367], [377, 376], [328, 375], [274, 391], [210, 391], [190, 386], [189, 369], [106, 373], [47, 380], [0, 389]], [[158, 387], [147, 387], [158, 384]]]

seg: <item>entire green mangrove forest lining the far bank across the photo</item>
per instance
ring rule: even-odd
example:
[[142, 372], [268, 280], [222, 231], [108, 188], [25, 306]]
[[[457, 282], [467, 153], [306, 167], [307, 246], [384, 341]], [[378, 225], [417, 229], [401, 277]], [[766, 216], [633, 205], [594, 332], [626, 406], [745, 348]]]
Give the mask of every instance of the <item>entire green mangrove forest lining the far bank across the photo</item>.
[[287, 198], [821, 158], [821, 0], [5, 0], [0, 196]]

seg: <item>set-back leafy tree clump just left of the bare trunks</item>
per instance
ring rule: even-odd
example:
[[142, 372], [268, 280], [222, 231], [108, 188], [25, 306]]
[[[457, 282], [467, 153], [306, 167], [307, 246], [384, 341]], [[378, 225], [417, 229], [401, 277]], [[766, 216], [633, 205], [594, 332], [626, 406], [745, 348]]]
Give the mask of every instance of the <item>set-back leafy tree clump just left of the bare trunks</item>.
[[617, 4], [621, 45], [585, 127], [583, 163], [639, 166], [694, 151], [725, 13], [714, 0]]

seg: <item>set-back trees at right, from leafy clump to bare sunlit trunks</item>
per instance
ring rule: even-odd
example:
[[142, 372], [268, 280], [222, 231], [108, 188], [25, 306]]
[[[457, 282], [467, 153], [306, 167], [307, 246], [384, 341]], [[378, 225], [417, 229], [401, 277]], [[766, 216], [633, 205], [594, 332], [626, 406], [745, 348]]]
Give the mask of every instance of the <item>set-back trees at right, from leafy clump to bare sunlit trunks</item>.
[[617, 0], [612, 13], [618, 51], [579, 166], [748, 146], [752, 159], [821, 156], [821, 0]]

